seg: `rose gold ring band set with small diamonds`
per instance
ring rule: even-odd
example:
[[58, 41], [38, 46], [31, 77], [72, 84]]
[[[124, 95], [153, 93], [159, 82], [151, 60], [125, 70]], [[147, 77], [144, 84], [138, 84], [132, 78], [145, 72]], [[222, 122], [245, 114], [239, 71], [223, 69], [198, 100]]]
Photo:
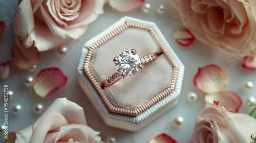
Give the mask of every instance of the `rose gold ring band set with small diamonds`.
[[[143, 69], [142, 65], [155, 60], [161, 54], [162, 54], [162, 52], [161, 53], [153, 53], [153, 54], [150, 54], [150, 55], [140, 58], [141, 65], [139, 66], [139, 70]], [[126, 77], [125, 73], [119, 73], [118, 71], [116, 71], [113, 75], [111, 75], [109, 78], [107, 78], [103, 82], [102, 88], [104, 89], [105, 87], [109, 87], [116, 81], [118, 81], [120, 79], [124, 79], [125, 77]]]

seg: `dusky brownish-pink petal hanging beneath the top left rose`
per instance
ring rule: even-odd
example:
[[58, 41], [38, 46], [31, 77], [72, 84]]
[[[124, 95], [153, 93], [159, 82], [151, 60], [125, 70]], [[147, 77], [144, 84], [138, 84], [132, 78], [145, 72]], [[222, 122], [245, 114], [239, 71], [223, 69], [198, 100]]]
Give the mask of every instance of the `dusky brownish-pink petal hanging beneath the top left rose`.
[[25, 48], [22, 40], [16, 37], [16, 42], [12, 45], [12, 59], [14, 65], [20, 69], [30, 69], [38, 64], [40, 60], [39, 52], [36, 47]]

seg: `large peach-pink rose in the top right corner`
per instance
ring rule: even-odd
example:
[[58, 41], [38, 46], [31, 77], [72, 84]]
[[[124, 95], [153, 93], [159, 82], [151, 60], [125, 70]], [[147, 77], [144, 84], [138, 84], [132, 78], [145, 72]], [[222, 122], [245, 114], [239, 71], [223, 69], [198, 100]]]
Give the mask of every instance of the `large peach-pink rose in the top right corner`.
[[256, 1], [172, 0], [182, 24], [201, 42], [239, 56], [256, 52]]

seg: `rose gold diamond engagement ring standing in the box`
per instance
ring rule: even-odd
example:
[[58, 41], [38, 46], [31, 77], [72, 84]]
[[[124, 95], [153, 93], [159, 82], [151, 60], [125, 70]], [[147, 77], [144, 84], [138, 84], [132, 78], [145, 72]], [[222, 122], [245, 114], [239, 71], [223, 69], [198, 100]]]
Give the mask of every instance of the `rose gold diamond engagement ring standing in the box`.
[[138, 71], [143, 69], [143, 64], [154, 60], [160, 54], [161, 53], [154, 53], [140, 58], [135, 49], [122, 52], [113, 59], [113, 62], [116, 64], [117, 71], [103, 82], [103, 88], [112, 85], [119, 79], [135, 75]]

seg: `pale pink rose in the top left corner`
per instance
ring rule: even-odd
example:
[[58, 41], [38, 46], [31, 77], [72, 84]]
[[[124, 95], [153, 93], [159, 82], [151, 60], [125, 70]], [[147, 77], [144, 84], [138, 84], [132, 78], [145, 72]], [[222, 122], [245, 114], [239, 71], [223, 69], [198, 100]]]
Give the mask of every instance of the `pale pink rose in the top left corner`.
[[83, 35], [103, 13], [103, 5], [104, 0], [23, 0], [13, 31], [25, 47], [50, 50]]

